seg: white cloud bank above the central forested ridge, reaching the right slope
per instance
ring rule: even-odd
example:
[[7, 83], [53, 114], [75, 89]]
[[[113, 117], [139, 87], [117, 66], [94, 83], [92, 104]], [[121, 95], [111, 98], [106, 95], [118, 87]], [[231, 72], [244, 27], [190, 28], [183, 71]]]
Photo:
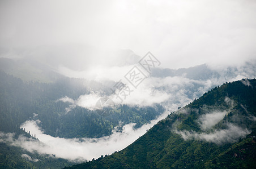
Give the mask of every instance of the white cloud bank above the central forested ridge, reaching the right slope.
[[[123, 72], [121, 74], [125, 74]], [[118, 81], [121, 79], [122, 83], [130, 87], [130, 95], [129, 92], [126, 92], [127, 96], [120, 94], [123, 102], [121, 102], [121, 99], [114, 94], [103, 95], [98, 91], [91, 91], [91, 94], [81, 95], [76, 100], [72, 100], [67, 96], [59, 100], [68, 101], [71, 103], [69, 108], [67, 108], [67, 112], [69, 112], [76, 105], [94, 110], [97, 101], [101, 97], [109, 97], [116, 104], [150, 106], [155, 103], [161, 103], [163, 105], [168, 105], [172, 109], [177, 109], [178, 106], [185, 106], [186, 104], [192, 102], [195, 98], [202, 96], [204, 92], [207, 92], [212, 87], [228, 81], [227, 75], [221, 75], [218, 78], [210, 78], [206, 80], [194, 80], [183, 76], [164, 78], [147, 77], [142, 83], [139, 84], [137, 88], [134, 88], [124, 77], [115, 78], [114, 75], [109, 75], [109, 78], [111, 80], [118, 79]], [[116, 83], [113, 83], [113, 86], [109, 86], [109, 91], [110, 88], [112, 88], [112, 90], [115, 89], [114, 84]], [[225, 101], [228, 101], [227, 99], [228, 98], [226, 98]]]

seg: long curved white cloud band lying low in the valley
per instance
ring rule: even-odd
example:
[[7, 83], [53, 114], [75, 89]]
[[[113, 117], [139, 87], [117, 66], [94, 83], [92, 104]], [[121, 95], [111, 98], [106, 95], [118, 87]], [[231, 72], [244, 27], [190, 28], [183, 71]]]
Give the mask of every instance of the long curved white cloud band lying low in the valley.
[[112, 154], [117, 150], [122, 150], [126, 146], [133, 143], [140, 136], [145, 134], [146, 130], [150, 129], [161, 119], [167, 117], [170, 112], [165, 112], [159, 118], [152, 120], [151, 123], [144, 124], [142, 127], [134, 130], [134, 123], [123, 126], [122, 132], [113, 132], [110, 136], [101, 137], [99, 139], [65, 139], [53, 137], [43, 133], [41, 128], [37, 126], [37, 121], [26, 121], [22, 124], [23, 128], [36, 135], [38, 140], [28, 139], [20, 136], [18, 140], [14, 139], [14, 134], [4, 134], [0, 132], [0, 141], [7, 144], [21, 146], [25, 150], [33, 153], [36, 151], [39, 154], [55, 154], [58, 158], [65, 158], [71, 161], [83, 162], [89, 161], [92, 158], [98, 158], [101, 155]]

